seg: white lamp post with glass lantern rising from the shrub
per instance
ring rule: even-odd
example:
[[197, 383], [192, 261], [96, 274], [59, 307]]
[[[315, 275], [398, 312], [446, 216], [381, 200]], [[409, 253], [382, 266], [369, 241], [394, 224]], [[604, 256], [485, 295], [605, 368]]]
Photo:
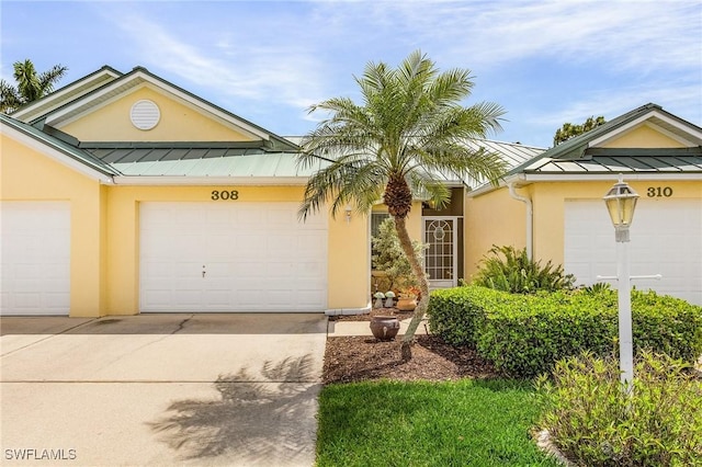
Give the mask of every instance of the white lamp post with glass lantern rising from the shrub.
[[634, 218], [638, 195], [622, 175], [604, 195], [604, 204], [614, 225], [616, 240], [616, 278], [619, 283], [619, 365], [622, 384], [630, 392], [634, 379], [634, 344], [632, 337], [631, 274], [629, 267], [629, 227]]

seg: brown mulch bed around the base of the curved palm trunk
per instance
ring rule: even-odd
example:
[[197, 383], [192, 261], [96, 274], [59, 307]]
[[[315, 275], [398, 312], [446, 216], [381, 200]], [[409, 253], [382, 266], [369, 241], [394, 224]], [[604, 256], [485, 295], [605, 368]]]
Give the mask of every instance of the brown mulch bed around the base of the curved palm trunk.
[[[372, 316], [411, 317], [411, 311], [373, 309], [370, 315], [338, 317], [340, 321], [370, 321]], [[371, 335], [328, 338], [322, 383], [352, 383], [369, 379], [444, 381], [461, 378], [494, 378], [499, 374], [467, 346], [449, 345], [437, 335], [416, 335], [412, 358], [400, 358], [400, 338], [382, 342]]]

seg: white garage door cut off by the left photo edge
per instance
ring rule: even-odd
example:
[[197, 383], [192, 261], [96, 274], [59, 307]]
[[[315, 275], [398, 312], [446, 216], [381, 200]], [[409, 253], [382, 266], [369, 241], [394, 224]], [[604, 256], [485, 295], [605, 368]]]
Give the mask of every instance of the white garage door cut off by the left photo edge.
[[68, 315], [70, 205], [0, 203], [1, 315]]

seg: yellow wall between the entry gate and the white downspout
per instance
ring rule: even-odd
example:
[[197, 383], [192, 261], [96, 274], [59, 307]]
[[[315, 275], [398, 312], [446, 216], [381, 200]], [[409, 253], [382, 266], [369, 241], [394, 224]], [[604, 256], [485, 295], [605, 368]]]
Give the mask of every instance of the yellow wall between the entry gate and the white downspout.
[[[529, 196], [529, 189], [518, 190]], [[526, 244], [524, 203], [513, 200], [507, 187], [465, 201], [464, 267], [465, 280], [477, 271], [477, 264], [492, 244], [524, 248]]]

